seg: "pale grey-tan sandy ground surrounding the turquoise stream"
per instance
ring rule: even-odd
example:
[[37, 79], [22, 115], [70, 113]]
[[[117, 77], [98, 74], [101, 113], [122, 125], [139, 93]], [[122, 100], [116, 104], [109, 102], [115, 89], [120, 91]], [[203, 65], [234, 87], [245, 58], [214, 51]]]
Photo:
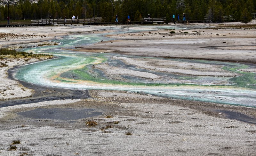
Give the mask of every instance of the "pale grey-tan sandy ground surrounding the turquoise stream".
[[[1, 38], [0, 43], [14, 45], [41, 42], [72, 32], [99, 33], [97, 29], [101, 26], [91, 26], [88, 29], [76, 29], [77, 27], [23, 27], [7, 30], [1, 28], [0, 33], [38, 36], [33, 36], [32, 40], [31, 36], [21, 39], [24, 36], [17, 35], [12, 39]], [[184, 34], [185, 31], [189, 34]], [[109, 35], [119, 40], [103, 41], [75, 50], [135, 56], [256, 62], [254, 29], [216, 28], [181, 30], [176, 31], [175, 34], [169, 32], [170, 30], [160, 30], [150, 33], [144, 31]], [[45, 37], [41, 38], [40, 35]], [[148, 47], [147, 51], [144, 47]], [[120, 59], [127, 61], [126, 58]], [[172, 68], [173, 63], [176, 62], [172, 62], [172, 66], [168, 62], [157, 62], [154, 67], [164, 66], [163, 70], [165, 70]], [[141, 64], [144, 64], [141, 68], [153, 68], [152, 60]], [[14, 65], [15, 63], [12, 66]], [[120, 72], [118, 68], [109, 70], [108, 65], [96, 67], [110, 74]], [[189, 72], [186, 67], [175, 64], [175, 68], [180, 69], [177, 72]], [[223, 76], [234, 74], [225, 73], [219, 67], [201, 67], [200, 64], [193, 64], [190, 68], [195, 67], [203, 68], [202, 71], [211, 68], [215, 71], [212, 74]], [[18, 82], [9, 85], [9, 81], [12, 80], [6, 79], [6, 70], [6, 67], [0, 68], [1, 76], [3, 75], [1, 87], [9, 86], [13, 88], [10, 90], [19, 90], [22, 86]], [[250, 69], [250, 72], [255, 72], [255, 69]], [[143, 73], [132, 74], [145, 76]], [[158, 78], [154, 74], [146, 76], [152, 79]], [[54, 100], [0, 108], [0, 155], [255, 155], [256, 153], [256, 124], [229, 119], [232, 118], [229, 112], [235, 112], [238, 113], [235, 116], [247, 115], [246, 121], [256, 123], [255, 108], [176, 100], [124, 91], [90, 90], [89, 93], [91, 97], [83, 100]], [[25, 96], [31, 94], [32, 92], [27, 92]], [[21, 93], [17, 91], [14, 95], [23, 97], [23, 91]], [[7, 94], [3, 98], [7, 100], [12, 97]], [[47, 113], [40, 118], [29, 116], [29, 113], [27, 116], [20, 114], [38, 108], [76, 109], [83, 110], [85, 114], [93, 111], [101, 112], [102, 115], [60, 120], [47, 118]], [[52, 114], [58, 116], [58, 112], [52, 111]], [[49, 113], [48, 115], [50, 116]], [[107, 118], [107, 116], [111, 117]], [[88, 126], [86, 121], [89, 120], [98, 124]], [[115, 121], [119, 123], [114, 124]], [[132, 135], [126, 135], [127, 132], [131, 132]], [[21, 144], [16, 145], [15, 151], [10, 151], [9, 147], [14, 139], [19, 139]]]

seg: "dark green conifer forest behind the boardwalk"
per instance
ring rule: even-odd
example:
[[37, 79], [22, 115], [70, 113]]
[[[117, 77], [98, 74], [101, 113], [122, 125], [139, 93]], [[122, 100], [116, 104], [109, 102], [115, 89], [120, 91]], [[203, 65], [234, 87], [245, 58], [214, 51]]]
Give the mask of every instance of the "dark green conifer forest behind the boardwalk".
[[101, 17], [103, 21], [132, 21], [141, 17], [166, 17], [172, 20], [174, 14], [180, 18], [185, 13], [187, 20], [204, 20], [209, 17], [213, 22], [221, 22], [224, 16], [232, 15], [230, 20], [251, 20], [256, 10], [256, 0], [9, 0], [0, 6], [0, 20], [23, 19], [63, 19]]

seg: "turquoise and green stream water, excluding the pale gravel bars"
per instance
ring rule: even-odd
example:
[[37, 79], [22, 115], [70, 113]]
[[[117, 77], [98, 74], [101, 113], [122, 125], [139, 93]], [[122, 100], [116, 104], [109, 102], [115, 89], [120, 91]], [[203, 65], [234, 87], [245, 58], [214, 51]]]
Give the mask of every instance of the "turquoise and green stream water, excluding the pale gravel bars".
[[[154, 27], [149, 28], [156, 29]], [[132, 30], [122, 28], [115, 29], [115, 27], [107, 29], [115, 30], [115, 32], [111, 33], [141, 31], [141, 27]], [[175, 29], [178, 28], [176, 27]], [[180, 29], [184, 28], [182, 27]], [[63, 37], [63, 39], [52, 40], [60, 43], [58, 46], [36, 47], [33, 49], [35, 53], [51, 53], [58, 56], [58, 58], [24, 65], [16, 69], [14, 76], [16, 79], [24, 82], [48, 87], [68, 89], [127, 90], [134, 92], [145, 92], [157, 96], [166, 96], [177, 99], [256, 107], [256, 74], [237, 70], [239, 68], [250, 68], [251, 66], [249, 65], [205, 60], [162, 59], [210, 65], [214, 64], [222, 66], [222, 69], [224, 70], [241, 74], [241, 76], [236, 77], [188, 76], [138, 68], [127, 65], [123, 61], [113, 58], [113, 56], [126, 58], [140, 57], [123, 56], [112, 53], [89, 53], [64, 50], [73, 49], [75, 46], [91, 45], [100, 42], [101, 40], [110, 40], [109, 38], [104, 37], [104, 35], [105, 34], [72, 34]], [[108, 76], [104, 74], [103, 71], [94, 69], [92, 67], [93, 65], [102, 63], [108, 63], [113, 67], [122, 67], [124, 69], [133, 71], [147, 72], [162, 76], [164, 78], [160, 80], [145, 80], [136, 76], [120, 74], [119, 76], [124, 78], [125, 81], [112, 80], [108, 79]], [[179, 79], [186, 83], [172, 83], [172, 81], [169, 81], [171, 79]], [[213, 85], [213, 82], [225, 83]]]

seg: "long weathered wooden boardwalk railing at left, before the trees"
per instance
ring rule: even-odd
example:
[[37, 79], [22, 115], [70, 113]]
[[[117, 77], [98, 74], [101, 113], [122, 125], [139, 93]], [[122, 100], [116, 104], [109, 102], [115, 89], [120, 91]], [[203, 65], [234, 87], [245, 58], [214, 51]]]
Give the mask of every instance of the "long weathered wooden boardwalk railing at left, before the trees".
[[32, 25], [59, 25], [59, 24], [92, 24], [99, 23], [102, 18], [84, 18], [84, 19], [34, 19]]

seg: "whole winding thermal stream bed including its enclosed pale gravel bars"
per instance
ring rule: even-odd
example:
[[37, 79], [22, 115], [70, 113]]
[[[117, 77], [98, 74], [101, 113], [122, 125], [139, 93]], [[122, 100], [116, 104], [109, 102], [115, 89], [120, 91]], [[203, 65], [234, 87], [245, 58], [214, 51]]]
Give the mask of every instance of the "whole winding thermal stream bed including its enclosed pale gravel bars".
[[[112, 33], [142, 31], [141, 26], [129, 30], [105, 29], [115, 30]], [[252, 68], [250, 65], [75, 51], [78, 46], [113, 40], [105, 35], [74, 33], [52, 40], [59, 43], [57, 46], [33, 48], [34, 53], [50, 53], [57, 58], [16, 68], [14, 77], [47, 87], [125, 90], [176, 99], [256, 107], [256, 73], [242, 70]]]

